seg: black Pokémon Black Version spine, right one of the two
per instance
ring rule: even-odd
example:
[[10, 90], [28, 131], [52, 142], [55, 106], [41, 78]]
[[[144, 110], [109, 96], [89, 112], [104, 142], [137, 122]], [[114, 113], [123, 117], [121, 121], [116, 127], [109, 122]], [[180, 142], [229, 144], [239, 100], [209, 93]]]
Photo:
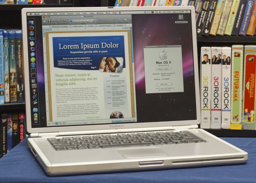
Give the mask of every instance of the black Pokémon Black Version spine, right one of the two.
[[211, 0], [211, 2], [210, 2], [210, 7], [208, 8], [206, 20], [204, 21], [204, 26], [203, 26], [203, 30], [202, 30], [203, 35], [208, 36], [210, 33], [210, 28], [212, 26], [212, 19], [214, 17], [214, 12], [216, 9], [217, 2], [218, 2], [218, 0]]

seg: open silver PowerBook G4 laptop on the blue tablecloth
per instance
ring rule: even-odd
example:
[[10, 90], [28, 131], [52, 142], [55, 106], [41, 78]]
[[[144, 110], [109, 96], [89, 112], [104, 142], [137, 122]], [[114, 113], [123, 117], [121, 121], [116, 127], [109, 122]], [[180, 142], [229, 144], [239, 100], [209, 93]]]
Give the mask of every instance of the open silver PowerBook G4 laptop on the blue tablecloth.
[[243, 164], [202, 129], [194, 7], [22, 10], [28, 146], [47, 175]]

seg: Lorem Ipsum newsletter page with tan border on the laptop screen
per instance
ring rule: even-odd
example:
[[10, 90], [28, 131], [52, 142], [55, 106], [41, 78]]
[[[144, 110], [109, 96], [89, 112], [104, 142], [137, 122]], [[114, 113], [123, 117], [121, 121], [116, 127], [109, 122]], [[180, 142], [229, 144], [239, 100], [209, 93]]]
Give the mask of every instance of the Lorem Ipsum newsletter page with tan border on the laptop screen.
[[49, 31], [45, 40], [50, 122], [134, 118], [130, 30]]

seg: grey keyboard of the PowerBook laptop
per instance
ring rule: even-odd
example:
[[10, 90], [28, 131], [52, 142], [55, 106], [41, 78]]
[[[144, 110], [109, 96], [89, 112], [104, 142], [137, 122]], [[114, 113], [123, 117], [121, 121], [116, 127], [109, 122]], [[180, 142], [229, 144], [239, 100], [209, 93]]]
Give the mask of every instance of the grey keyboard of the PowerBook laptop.
[[96, 149], [206, 142], [189, 131], [48, 138], [55, 150]]

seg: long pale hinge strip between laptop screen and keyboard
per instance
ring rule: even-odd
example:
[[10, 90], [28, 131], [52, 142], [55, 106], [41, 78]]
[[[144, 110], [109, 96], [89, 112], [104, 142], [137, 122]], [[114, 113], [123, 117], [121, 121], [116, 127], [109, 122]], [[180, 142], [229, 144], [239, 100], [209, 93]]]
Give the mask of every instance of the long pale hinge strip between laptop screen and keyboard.
[[77, 131], [77, 132], [53, 132], [53, 133], [31, 133], [31, 137], [55, 137], [67, 135], [86, 135], [86, 134], [100, 134], [100, 133], [129, 133], [129, 132], [146, 132], [146, 131], [165, 131], [165, 130], [188, 130], [198, 128], [198, 125], [184, 125], [184, 126], [163, 126], [153, 128], [130, 128], [130, 129], [111, 129], [111, 130], [91, 130], [91, 131]]

